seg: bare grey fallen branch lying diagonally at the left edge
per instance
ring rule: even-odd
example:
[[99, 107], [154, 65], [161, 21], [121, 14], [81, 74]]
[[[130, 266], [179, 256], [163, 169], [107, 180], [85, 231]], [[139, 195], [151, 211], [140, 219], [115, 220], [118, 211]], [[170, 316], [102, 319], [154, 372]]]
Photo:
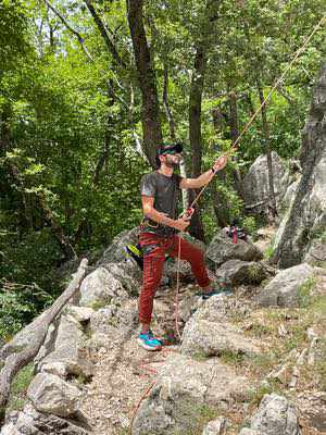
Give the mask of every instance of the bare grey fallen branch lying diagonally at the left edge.
[[[79, 289], [82, 281], [86, 274], [87, 263], [87, 259], [82, 260], [80, 265], [67, 288], [59, 296], [52, 307], [43, 313], [41, 321], [38, 322], [38, 327], [34, 331], [34, 336], [29, 340], [29, 344], [22, 351], [13, 352], [5, 358], [4, 366], [0, 372], [0, 408], [5, 407], [8, 402], [11, 383], [16, 373], [36, 357], [46, 339], [50, 324], [58, 314], [60, 314], [62, 308], [67, 303], [67, 301]], [[1, 355], [8, 355], [8, 352], [10, 352], [9, 349], [12, 349], [10, 343], [1, 349]]]

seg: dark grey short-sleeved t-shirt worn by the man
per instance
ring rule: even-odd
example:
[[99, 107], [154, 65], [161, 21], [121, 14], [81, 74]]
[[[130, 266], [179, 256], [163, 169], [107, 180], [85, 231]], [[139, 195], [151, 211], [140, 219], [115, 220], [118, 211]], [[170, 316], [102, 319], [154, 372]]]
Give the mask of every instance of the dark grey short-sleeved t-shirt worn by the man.
[[[140, 182], [140, 194], [146, 197], [154, 198], [154, 209], [161, 213], [166, 213], [171, 219], [177, 219], [177, 201], [180, 191], [180, 181], [183, 177], [178, 174], [166, 176], [160, 172], [152, 172], [145, 175]], [[152, 222], [155, 225], [154, 222]], [[160, 224], [156, 228], [143, 226], [141, 233], [154, 233], [160, 236], [171, 236], [176, 229], [167, 225]]]

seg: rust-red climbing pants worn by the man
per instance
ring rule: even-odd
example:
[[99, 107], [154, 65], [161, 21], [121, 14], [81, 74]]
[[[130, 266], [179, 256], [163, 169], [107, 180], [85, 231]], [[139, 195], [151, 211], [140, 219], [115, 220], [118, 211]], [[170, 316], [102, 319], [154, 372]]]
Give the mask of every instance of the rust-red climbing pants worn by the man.
[[161, 283], [165, 253], [177, 258], [179, 239], [180, 259], [187, 260], [190, 263], [197, 283], [201, 287], [206, 287], [210, 284], [210, 278], [204, 266], [203, 252], [196, 246], [176, 235], [164, 238], [151, 233], [140, 234], [139, 241], [143, 249], [142, 288], [138, 307], [140, 323], [151, 323], [153, 299]]

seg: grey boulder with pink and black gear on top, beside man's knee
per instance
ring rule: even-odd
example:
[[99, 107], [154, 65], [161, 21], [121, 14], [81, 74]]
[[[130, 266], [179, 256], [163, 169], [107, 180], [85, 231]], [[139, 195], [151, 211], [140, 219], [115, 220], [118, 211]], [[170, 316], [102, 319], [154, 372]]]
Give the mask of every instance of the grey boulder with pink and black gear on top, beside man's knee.
[[215, 268], [228, 260], [258, 261], [263, 258], [263, 252], [249, 241], [238, 240], [234, 244], [223, 232], [216, 234], [205, 252], [209, 261]]

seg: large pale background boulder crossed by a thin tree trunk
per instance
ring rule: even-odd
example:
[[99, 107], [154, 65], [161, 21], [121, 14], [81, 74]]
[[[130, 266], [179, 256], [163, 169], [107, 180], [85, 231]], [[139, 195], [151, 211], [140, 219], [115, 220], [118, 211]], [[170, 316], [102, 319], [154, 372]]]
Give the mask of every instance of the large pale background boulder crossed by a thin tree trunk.
[[[274, 191], [277, 203], [286, 192], [288, 174], [278, 154], [272, 152]], [[243, 197], [247, 206], [266, 201], [269, 198], [267, 157], [260, 156], [250, 166], [243, 178]]]

